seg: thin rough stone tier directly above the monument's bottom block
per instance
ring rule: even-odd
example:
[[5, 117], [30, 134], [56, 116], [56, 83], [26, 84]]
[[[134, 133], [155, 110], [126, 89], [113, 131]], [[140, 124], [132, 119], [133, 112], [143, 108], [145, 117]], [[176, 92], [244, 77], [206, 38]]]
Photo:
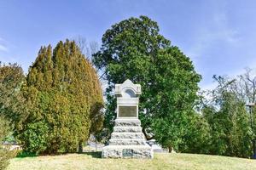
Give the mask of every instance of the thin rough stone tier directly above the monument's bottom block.
[[145, 145], [145, 139], [110, 139], [109, 145]]

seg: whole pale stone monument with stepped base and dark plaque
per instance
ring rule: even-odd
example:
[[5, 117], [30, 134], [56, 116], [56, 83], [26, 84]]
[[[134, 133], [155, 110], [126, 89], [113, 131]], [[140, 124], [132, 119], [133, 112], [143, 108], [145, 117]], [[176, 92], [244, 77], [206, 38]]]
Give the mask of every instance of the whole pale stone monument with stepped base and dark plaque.
[[104, 158], [153, 158], [153, 150], [146, 143], [138, 119], [141, 85], [126, 80], [115, 85], [117, 118], [109, 144], [102, 148]]

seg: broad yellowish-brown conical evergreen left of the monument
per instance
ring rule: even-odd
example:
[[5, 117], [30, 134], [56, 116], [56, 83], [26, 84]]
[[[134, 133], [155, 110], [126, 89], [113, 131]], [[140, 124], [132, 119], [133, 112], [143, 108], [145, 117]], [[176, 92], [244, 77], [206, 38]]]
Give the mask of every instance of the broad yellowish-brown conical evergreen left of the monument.
[[75, 42], [43, 47], [23, 87], [18, 139], [33, 153], [73, 152], [102, 128], [102, 88]]

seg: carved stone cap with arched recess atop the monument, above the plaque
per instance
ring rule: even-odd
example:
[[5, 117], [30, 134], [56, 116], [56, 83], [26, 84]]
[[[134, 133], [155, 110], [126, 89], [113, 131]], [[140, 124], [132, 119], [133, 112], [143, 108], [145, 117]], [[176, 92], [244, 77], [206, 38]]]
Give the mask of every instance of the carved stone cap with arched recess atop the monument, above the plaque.
[[134, 84], [131, 80], [127, 79], [122, 84], [115, 84], [115, 95], [123, 98], [136, 98], [142, 94], [140, 84]]

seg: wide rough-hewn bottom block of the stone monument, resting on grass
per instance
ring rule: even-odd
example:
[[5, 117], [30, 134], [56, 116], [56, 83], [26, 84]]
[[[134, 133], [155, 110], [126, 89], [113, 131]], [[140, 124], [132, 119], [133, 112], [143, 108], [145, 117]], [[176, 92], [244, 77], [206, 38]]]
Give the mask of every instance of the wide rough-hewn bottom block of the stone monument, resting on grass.
[[[130, 153], [127, 154], [127, 151]], [[154, 154], [149, 145], [108, 145], [102, 149], [102, 157], [152, 159]]]

